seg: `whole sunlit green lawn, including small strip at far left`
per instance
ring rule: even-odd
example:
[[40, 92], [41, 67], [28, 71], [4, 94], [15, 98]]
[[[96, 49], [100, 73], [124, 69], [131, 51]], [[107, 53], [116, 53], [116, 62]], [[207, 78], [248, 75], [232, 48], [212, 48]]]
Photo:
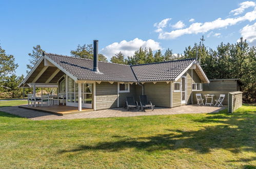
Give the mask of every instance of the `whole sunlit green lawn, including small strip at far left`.
[[48, 121], [0, 112], [0, 168], [254, 168], [255, 127], [248, 104], [233, 114]]

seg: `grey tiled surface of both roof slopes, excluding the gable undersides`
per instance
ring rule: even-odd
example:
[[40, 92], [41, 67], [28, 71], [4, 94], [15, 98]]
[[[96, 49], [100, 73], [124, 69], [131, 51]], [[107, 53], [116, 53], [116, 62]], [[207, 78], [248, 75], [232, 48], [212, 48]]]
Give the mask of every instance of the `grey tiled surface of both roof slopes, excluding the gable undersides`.
[[93, 60], [51, 53], [45, 55], [78, 80], [127, 82], [174, 80], [195, 60], [191, 58], [134, 66], [99, 61], [99, 74], [93, 71]]

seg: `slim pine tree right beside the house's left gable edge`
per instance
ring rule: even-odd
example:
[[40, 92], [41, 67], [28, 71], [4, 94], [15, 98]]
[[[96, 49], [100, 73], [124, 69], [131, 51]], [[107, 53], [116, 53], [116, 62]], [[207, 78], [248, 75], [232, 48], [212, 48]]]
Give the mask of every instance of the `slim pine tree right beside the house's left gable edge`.
[[27, 73], [35, 66], [36, 62], [43, 56], [44, 50], [41, 49], [40, 45], [36, 45], [33, 47], [32, 53], [29, 53], [28, 56], [30, 57], [29, 63], [27, 65]]

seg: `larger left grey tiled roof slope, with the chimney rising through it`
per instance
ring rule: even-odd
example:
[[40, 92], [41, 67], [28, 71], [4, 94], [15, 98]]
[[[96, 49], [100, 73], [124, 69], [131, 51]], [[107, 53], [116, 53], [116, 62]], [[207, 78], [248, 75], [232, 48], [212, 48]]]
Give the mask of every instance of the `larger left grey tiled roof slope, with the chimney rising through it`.
[[93, 71], [93, 60], [51, 53], [45, 53], [45, 56], [77, 77], [78, 80], [137, 81], [131, 67], [128, 65], [99, 61], [99, 70], [102, 73], [99, 74]]

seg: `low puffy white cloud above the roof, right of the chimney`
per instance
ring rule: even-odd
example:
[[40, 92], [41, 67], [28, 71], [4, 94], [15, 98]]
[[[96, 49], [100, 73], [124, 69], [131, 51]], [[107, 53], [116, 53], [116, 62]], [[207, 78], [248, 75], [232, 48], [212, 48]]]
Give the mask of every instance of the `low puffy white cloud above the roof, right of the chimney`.
[[143, 48], [151, 48], [153, 51], [162, 49], [160, 46], [160, 43], [157, 41], [154, 41], [152, 39], [148, 39], [147, 41], [144, 41], [139, 38], [135, 38], [130, 41], [122, 40], [120, 43], [113, 43], [101, 50], [101, 53], [106, 55], [108, 58], [111, 58], [114, 56], [114, 54], [119, 53], [120, 51], [125, 55], [125, 56], [132, 56], [134, 52], [140, 47]]

